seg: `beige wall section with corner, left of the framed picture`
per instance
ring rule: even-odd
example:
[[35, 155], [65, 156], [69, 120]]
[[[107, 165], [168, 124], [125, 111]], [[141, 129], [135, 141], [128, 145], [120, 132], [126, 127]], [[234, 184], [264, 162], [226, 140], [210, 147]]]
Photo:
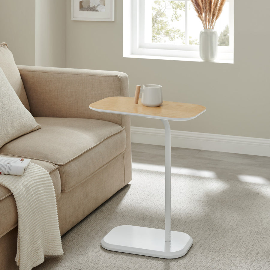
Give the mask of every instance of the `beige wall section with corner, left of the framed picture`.
[[1, 0], [0, 24], [16, 64], [65, 66], [65, 0]]

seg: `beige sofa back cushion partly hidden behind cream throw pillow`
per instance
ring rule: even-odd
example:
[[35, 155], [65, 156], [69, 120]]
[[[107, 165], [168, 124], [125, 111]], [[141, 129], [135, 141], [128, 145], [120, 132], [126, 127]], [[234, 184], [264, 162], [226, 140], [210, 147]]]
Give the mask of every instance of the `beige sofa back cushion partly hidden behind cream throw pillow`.
[[24, 107], [30, 111], [19, 70], [15, 64], [12, 52], [7, 48], [7, 44], [5, 42], [0, 44], [0, 67], [4, 71], [9, 83], [18, 95]]

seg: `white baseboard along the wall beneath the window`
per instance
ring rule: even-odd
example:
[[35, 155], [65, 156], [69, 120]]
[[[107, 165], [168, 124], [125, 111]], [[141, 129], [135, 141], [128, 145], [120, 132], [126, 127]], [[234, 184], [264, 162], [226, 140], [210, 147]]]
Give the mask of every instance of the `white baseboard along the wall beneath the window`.
[[[131, 127], [131, 142], [164, 145], [165, 132], [157, 128]], [[270, 157], [270, 139], [171, 131], [173, 147]]]

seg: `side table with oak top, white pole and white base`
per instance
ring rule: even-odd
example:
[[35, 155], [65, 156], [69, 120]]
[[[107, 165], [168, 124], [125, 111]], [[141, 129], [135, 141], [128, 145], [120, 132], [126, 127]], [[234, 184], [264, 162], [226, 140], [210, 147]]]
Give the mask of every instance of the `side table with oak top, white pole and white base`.
[[205, 107], [171, 101], [163, 101], [160, 107], [146, 107], [140, 99], [138, 104], [134, 104], [134, 98], [109, 97], [90, 104], [89, 108], [98, 112], [160, 119], [165, 128], [165, 230], [117, 226], [101, 240], [102, 247], [167, 259], [184, 256], [193, 239], [184, 232], [171, 231], [171, 129], [168, 120], [191, 120], [205, 112]]

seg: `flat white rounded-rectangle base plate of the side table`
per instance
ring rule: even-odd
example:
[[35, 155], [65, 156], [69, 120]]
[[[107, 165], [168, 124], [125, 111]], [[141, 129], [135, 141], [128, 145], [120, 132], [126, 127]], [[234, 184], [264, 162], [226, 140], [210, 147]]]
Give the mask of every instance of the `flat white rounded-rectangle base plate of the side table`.
[[184, 256], [193, 243], [184, 232], [171, 231], [165, 241], [165, 230], [132, 225], [113, 228], [102, 240], [102, 247], [119, 252], [173, 259]]

